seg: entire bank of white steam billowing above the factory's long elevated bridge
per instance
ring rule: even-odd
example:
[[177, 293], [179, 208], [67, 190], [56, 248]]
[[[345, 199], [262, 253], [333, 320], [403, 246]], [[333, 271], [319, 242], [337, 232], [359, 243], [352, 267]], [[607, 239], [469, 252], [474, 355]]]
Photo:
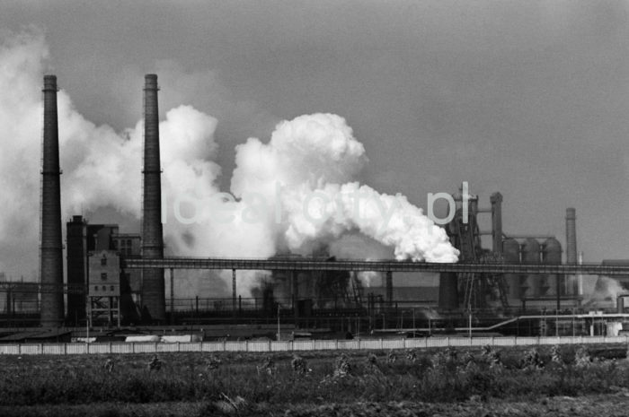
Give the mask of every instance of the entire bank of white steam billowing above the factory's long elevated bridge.
[[[4, 261], [22, 260], [0, 270], [29, 268], [32, 274], [37, 268], [40, 84], [47, 56], [39, 34], [15, 35], [0, 47], [5, 92], [0, 96], [0, 248]], [[138, 218], [142, 122], [120, 134], [95, 126], [64, 91], [58, 94], [58, 117], [66, 218], [103, 206]], [[214, 117], [190, 106], [169, 110], [160, 124], [169, 252], [273, 256], [310, 254], [324, 244], [341, 255], [343, 242], [352, 236], [377, 248], [378, 257], [456, 261], [444, 230], [421, 209], [402, 195], [381, 195], [356, 182], [368, 159], [342, 117], [297, 117], [280, 123], [269, 143], [250, 138], [238, 145], [231, 194], [217, 187], [216, 126]]]

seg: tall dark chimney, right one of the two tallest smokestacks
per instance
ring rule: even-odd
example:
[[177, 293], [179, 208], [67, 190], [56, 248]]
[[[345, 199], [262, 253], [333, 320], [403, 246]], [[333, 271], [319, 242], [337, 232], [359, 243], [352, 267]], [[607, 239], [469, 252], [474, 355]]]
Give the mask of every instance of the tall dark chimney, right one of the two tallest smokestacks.
[[[157, 107], [157, 75], [146, 74], [144, 87], [144, 202], [142, 220], [142, 256], [145, 259], [164, 257], [162, 235], [162, 168], [159, 156], [159, 111]], [[142, 283], [142, 304], [151, 319], [166, 318], [164, 270], [145, 269]]]

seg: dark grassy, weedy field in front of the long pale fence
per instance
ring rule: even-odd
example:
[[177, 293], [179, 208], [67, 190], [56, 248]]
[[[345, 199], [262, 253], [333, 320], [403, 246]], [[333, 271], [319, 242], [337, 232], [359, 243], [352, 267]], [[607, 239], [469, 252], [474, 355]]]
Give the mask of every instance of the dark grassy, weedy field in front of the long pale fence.
[[0, 357], [0, 415], [59, 414], [55, 410], [99, 416], [422, 415], [433, 410], [424, 414], [431, 415], [442, 403], [478, 408], [505, 401], [538, 404], [542, 410], [539, 399], [546, 397], [624, 397], [629, 393], [625, 354], [625, 346], [566, 346], [304, 352], [297, 358], [286, 352], [164, 353], [156, 361], [152, 354], [7, 355]]

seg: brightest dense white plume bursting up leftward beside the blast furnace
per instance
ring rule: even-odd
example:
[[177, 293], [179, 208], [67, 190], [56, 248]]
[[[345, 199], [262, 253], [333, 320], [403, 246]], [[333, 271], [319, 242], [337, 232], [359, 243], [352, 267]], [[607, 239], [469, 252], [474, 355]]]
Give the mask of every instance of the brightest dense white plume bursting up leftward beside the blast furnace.
[[267, 207], [266, 214], [275, 215], [279, 243], [293, 252], [358, 230], [394, 248], [396, 259], [456, 262], [445, 230], [406, 197], [347, 182], [366, 162], [365, 148], [342, 117], [296, 117], [279, 124], [270, 143], [249, 139], [237, 147], [232, 192], [272, 201], [275, 211]]

